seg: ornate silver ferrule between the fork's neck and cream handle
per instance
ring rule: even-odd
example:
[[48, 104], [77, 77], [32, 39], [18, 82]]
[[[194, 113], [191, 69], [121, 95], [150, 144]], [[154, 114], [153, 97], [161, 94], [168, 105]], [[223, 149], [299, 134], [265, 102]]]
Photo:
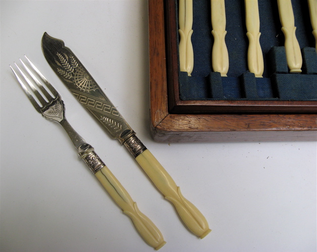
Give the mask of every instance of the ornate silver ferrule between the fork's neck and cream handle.
[[95, 149], [88, 143], [82, 144], [78, 148], [79, 157], [86, 163], [89, 169], [95, 174], [105, 166], [104, 162], [95, 153]]

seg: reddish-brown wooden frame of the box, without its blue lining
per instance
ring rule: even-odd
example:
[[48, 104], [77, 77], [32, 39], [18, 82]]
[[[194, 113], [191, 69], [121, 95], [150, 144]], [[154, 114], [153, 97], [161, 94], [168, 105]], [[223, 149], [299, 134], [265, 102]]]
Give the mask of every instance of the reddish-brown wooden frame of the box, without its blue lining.
[[169, 22], [171, 15], [175, 15], [172, 2], [149, 0], [150, 114], [154, 140], [317, 140], [317, 102], [180, 100], [177, 54], [171, 54], [176, 44], [166, 42], [175, 36], [171, 33], [175, 27], [171, 29], [173, 24]]

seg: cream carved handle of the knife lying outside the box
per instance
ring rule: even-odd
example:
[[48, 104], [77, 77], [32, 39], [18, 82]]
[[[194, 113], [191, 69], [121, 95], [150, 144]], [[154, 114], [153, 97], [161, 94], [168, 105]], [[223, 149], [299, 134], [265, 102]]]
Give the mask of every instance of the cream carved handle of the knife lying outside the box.
[[185, 225], [200, 238], [205, 237], [211, 231], [206, 218], [182, 195], [179, 187], [152, 153], [146, 149], [135, 160], [164, 194], [165, 198], [174, 204]]

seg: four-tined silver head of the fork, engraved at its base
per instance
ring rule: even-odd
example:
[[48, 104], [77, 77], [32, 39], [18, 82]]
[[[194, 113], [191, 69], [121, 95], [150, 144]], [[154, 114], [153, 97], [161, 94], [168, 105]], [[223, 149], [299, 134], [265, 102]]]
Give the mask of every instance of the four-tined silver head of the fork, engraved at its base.
[[[18, 74], [10, 65], [14, 75], [18, 79], [25, 94], [29, 98], [36, 111], [41, 113], [42, 116], [46, 119], [57, 121], [60, 123], [65, 118], [65, 106], [63, 100], [61, 99], [61, 96], [51, 85], [51, 83], [39, 72], [34, 64], [32, 64], [32, 62], [26, 56], [25, 58], [28, 62], [29, 67], [21, 59], [20, 61], [25, 68], [27, 74], [25, 74], [15, 63], [15, 66], [20, 74]], [[32, 69], [32, 71], [30, 70], [30, 68]], [[34, 75], [34, 73], [37, 75], [37, 77]], [[20, 77], [25, 81], [22, 81]], [[44, 86], [46, 86], [51, 93], [49, 93]], [[35, 97], [38, 101], [35, 99]]]

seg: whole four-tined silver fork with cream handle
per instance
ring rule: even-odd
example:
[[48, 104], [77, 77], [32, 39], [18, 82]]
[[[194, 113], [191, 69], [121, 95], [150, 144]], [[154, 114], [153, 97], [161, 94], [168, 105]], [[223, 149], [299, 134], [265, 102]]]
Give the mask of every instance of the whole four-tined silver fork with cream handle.
[[[134, 226], [137, 228], [144, 240], [156, 250], [161, 248], [165, 244], [165, 241], [160, 230], [147, 216], [140, 212], [137, 207], [137, 203], [132, 200], [128, 192], [95, 153], [92, 145], [86, 143], [85, 140], [68, 123], [65, 118], [64, 102], [60, 94], [39, 72], [33, 63], [26, 56], [25, 58], [28, 62], [27, 64], [33, 71], [31, 71], [21, 59], [20, 61], [27, 74], [25, 74], [16, 63], [15, 68], [18, 69], [20, 76], [23, 77], [22, 79], [25, 80], [27, 85], [21, 80], [19, 74], [11, 65], [10, 67], [36, 111], [42, 114], [44, 118], [56, 121], [63, 126], [73, 144], [77, 148], [79, 157], [96, 175], [98, 180], [114, 199], [116, 204], [123, 210], [123, 213], [131, 218]], [[35, 75], [37, 74], [42, 83], [36, 78], [33, 72]], [[31, 77], [32, 81], [27, 75]], [[43, 84], [51, 93], [46, 88], [44, 88]], [[31, 90], [33, 94], [29, 90]], [[37, 100], [35, 99], [34, 95]]]

